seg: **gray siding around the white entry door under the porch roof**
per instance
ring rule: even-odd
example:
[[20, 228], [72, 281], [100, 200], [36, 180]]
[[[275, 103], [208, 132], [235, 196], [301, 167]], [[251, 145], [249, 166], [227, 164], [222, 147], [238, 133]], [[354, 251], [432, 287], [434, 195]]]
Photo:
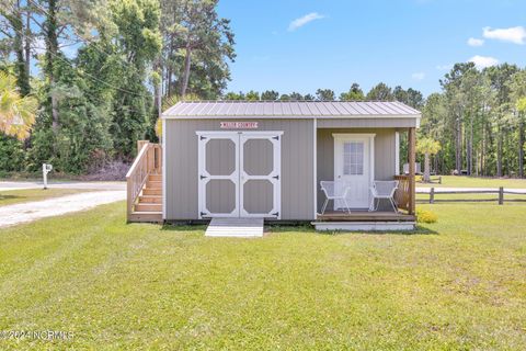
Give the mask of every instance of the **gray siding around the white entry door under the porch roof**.
[[[317, 184], [322, 180], [334, 180], [334, 137], [333, 133], [375, 133], [375, 180], [391, 180], [396, 168], [395, 128], [319, 128], [317, 138]], [[324, 194], [318, 186], [318, 208], [320, 211]]]

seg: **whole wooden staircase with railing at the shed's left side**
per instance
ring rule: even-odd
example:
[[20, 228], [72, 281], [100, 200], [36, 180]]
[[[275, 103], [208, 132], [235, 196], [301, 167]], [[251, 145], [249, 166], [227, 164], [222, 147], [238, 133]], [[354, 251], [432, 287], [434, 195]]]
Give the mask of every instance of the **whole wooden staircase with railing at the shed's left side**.
[[139, 154], [126, 176], [127, 220], [162, 223], [162, 165], [158, 144], [139, 141]]

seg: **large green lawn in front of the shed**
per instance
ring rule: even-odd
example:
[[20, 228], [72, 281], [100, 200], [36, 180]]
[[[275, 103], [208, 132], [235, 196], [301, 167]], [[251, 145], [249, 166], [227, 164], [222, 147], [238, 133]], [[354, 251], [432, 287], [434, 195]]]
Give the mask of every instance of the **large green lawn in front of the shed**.
[[261, 239], [124, 224], [124, 203], [0, 230], [0, 349], [508, 349], [526, 344], [526, 205], [422, 205], [416, 234]]

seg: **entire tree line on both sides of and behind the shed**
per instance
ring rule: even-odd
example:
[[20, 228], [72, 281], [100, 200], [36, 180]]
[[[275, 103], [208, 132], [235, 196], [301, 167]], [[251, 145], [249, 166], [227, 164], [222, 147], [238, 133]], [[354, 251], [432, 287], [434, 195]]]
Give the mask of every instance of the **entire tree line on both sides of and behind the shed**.
[[0, 171], [50, 162], [84, 173], [129, 162], [137, 139], [157, 140], [159, 106], [181, 99], [381, 100], [422, 111], [419, 138], [433, 145], [422, 154], [434, 172], [524, 177], [526, 71], [515, 65], [456, 64], [427, 98], [384, 82], [367, 92], [352, 83], [339, 95], [228, 92], [235, 35], [216, 11], [218, 0], [4, 2]]

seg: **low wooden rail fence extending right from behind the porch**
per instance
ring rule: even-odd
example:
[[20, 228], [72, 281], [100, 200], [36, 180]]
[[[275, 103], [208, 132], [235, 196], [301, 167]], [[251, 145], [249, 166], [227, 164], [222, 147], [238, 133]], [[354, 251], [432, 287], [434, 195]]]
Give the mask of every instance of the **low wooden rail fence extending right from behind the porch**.
[[[504, 201], [506, 202], [526, 202], [526, 199], [504, 199], [504, 194], [513, 194], [513, 195], [525, 195], [526, 193], [514, 191], [514, 190], [504, 190], [503, 186], [499, 189], [488, 189], [488, 190], [441, 190], [439, 188], [431, 188], [428, 192], [419, 191], [418, 194], [428, 194], [430, 204], [434, 204], [435, 202], [494, 202], [496, 201], [499, 205], [503, 205]], [[496, 199], [435, 199], [436, 195], [446, 195], [446, 194], [496, 194]], [[420, 203], [426, 202], [424, 200], [419, 200]]]

